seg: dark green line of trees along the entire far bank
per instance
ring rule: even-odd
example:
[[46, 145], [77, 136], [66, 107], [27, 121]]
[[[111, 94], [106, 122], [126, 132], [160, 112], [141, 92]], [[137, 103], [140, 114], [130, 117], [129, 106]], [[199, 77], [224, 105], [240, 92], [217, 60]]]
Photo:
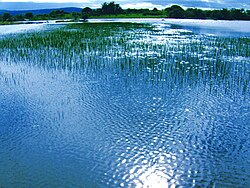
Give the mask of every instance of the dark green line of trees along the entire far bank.
[[173, 5], [164, 10], [154, 8], [149, 9], [122, 9], [119, 4], [114, 2], [103, 3], [101, 8], [91, 9], [85, 7], [82, 12], [68, 13], [63, 10], [54, 10], [49, 14], [33, 15], [28, 12], [21, 15], [12, 16], [9, 13], [0, 15], [0, 21], [24, 21], [24, 20], [48, 20], [48, 19], [74, 19], [86, 20], [91, 17], [100, 16], [127, 16], [127, 17], [161, 17], [161, 18], [190, 18], [190, 19], [214, 19], [214, 20], [250, 20], [250, 10], [244, 9], [221, 9], [221, 10], [202, 10], [197, 8], [188, 8], [184, 10], [179, 5]]

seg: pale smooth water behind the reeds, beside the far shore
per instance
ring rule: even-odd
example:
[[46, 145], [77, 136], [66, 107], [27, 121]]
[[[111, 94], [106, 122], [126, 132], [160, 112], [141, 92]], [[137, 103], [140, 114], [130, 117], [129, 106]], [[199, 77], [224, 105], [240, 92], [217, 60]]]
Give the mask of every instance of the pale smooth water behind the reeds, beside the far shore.
[[[161, 25], [162, 27], [171, 27], [178, 25], [182, 28], [194, 32], [220, 35], [220, 36], [250, 36], [250, 21], [226, 21], [226, 20], [199, 20], [199, 19], [155, 19], [155, 18], [132, 18], [132, 19], [89, 19], [90, 23], [101, 22], [132, 22], [132, 23], [150, 23]], [[43, 21], [38, 24], [18, 24], [18, 25], [0, 25], [0, 35], [10, 33], [23, 33], [27, 31], [46, 30], [48, 25], [60, 26], [66, 23], [57, 23], [55, 20]], [[48, 22], [48, 23], [46, 23]], [[34, 22], [35, 23], [35, 22]]]

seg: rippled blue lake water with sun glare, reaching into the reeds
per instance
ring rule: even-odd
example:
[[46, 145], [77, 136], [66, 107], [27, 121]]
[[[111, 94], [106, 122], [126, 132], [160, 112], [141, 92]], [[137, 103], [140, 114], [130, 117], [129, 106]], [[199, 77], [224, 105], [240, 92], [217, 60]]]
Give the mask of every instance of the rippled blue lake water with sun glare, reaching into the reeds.
[[[115, 50], [89, 52], [101, 68], [70, 68], [49, 64], [56, 53], [41, 63], [33, 52], [20, 60], [2, 49], [0, 187], [250, 186], [249, 40], [212, 57], [218, 32], [210, 26], [203, 33], [163, 22], [153, 22], [154, 32], [129, 31], [140, 37], [122, 51], [153, 66], [123, 65]], [[249, 37], [225, 35], [242, 34]], [[188, 49], [199, 41], [203, 47]]]

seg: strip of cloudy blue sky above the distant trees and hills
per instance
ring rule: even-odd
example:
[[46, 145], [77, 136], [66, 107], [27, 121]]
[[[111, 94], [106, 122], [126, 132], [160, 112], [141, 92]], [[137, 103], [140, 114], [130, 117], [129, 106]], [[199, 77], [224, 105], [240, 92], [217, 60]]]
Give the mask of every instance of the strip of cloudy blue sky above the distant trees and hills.
[[[164, 9], [173, 4], [183, 8], [222, 9], [243, 8], [250, 9], [250, 0], [110, 0], [127, 8], [157, 8]], [[61, 7], [91, 7], [101, 8], [102, 3], [109, 0], [0, 0], [0, 9], [30, 10]]]

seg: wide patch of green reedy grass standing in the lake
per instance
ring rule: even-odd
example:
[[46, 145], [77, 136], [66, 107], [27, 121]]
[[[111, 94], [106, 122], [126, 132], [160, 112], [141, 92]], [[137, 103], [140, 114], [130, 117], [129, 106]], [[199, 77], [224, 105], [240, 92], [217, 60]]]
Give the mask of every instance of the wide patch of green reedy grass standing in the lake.
[[203, 83], [211, 91], [249, 92], [250, 39], [159, 30], [135, 23], [72, 24], [6, 36], [2, 61], [118, 74], [169, 87]]

